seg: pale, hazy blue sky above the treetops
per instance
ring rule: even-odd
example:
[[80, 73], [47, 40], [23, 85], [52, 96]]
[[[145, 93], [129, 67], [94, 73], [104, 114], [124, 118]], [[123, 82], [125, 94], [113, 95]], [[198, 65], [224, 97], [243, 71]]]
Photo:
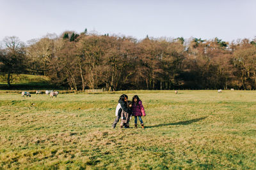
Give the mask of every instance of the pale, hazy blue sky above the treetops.
[[0, 41], [63, 31], [143, 39], [256, 38], [255, 0], [0, 0]]

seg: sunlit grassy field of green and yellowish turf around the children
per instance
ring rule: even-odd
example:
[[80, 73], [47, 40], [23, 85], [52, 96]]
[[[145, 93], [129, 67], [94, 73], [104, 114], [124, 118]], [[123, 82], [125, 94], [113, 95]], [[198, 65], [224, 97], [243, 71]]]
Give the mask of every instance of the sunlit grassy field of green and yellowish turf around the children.
[[[143, 101], [144, 130], [111, 128], [122, 93]], [[53, 99], [0, 94], [0, 169], [256, 169], [255, 96], [227, 90]]]

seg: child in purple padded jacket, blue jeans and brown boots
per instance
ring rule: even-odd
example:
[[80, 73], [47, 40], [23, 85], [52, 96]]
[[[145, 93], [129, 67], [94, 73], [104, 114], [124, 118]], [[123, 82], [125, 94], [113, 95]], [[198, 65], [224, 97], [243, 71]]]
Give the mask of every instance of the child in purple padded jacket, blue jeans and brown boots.
[[141, 116], [145, 117], [146, 113], [139, 96], [135, 95], [132, 97], [132, 115], [134, 116], [135, 128], [137, 127], [137, 117], [139, 117], [141, 127], [144, 129], [143, 121]]

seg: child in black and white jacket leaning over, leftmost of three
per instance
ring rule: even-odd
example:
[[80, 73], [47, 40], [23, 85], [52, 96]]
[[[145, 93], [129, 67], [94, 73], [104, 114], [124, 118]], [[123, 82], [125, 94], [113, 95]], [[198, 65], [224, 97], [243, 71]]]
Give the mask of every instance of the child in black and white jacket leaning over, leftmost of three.
[[122, 94], [119, 97], [118, 104], [116, 106], [116, 118], [115, 118], [115, 121], [112, 124], [113, 129], [115, 129], [117, 122], [119, 122], [122, 110], [124, 110], [124, 111], [126, 111], [130, 114], [132, 113], [131, 109], [127, 108], [127, 101], [128, 101], [128, 96], [127, 95]]

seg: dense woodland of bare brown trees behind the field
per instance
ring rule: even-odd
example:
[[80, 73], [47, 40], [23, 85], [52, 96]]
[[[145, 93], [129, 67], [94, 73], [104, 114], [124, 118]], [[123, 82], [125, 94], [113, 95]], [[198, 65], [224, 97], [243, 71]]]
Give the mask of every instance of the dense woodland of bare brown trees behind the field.
[[256, 39], [135, 39], [77, 34], [6, 37], [1, 74], [45, 75], [64, 89], [256, 89]]

